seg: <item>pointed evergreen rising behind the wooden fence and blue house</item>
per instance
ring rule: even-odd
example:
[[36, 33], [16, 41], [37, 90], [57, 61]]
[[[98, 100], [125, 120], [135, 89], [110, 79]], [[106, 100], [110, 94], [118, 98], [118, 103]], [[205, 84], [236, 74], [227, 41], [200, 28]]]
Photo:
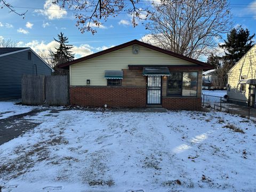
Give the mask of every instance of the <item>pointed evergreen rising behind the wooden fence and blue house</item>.
[[56, 51], [53, 52], [53, 62], [55, 65], [59, 65], [64, 62], [74, 60], [74, 54], [70, 49], [73, 45], [68, 45], [68, 37], [64, 36], [62, 32], [58, 35], [58, 40], [54, 38], [56, 42], [60, 44], [58, 48], [55, 47]]

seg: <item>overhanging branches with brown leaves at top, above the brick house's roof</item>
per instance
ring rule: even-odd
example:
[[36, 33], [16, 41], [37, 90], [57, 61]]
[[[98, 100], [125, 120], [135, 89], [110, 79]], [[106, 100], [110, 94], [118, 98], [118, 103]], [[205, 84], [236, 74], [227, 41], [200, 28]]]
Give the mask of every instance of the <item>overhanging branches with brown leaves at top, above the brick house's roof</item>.
[[[95, 26], [100, 27], [102, 20], [107, 21], [110, 16], [116, 17], [123, 12], [132, 16], [133, 27], [135, 27], [138, 25], [137, 19], [146, 19], [150, 13], [148, 7], [143, 9], [137, 7], [140, 0], [52, 0], [52, 2], [59, 4], [60, 8], [74, 10], [77, 19], [76, 26], [81, 33], [85, 31], [97, 33]], [[86, 13], [81, 13], [81, 11]]]

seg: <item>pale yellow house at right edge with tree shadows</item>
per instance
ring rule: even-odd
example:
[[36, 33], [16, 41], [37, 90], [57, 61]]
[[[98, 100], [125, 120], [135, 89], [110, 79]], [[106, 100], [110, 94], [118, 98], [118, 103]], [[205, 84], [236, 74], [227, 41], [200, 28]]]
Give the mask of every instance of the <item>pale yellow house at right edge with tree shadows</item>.
[[228, 71], [228, 97], [242, 105], [256, 107], [256, 45]]

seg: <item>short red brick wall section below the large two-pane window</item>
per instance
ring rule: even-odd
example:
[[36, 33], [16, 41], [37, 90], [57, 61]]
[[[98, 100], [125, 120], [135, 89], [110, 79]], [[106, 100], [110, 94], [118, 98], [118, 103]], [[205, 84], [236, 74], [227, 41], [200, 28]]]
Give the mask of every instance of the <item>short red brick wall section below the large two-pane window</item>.
[[201, 110], [201, 98], [162, 98], [162, 106], [172, 110]]

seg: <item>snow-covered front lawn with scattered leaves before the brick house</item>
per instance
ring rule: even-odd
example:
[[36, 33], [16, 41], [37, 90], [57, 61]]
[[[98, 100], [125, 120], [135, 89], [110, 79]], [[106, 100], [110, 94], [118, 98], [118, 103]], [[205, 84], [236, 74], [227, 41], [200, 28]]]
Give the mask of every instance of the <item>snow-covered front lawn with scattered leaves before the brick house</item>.
[[0, 146], [3, 192], [255, 191], [255, 124], [238, 116], [67, 110], [27, 118], [42, 124]]

